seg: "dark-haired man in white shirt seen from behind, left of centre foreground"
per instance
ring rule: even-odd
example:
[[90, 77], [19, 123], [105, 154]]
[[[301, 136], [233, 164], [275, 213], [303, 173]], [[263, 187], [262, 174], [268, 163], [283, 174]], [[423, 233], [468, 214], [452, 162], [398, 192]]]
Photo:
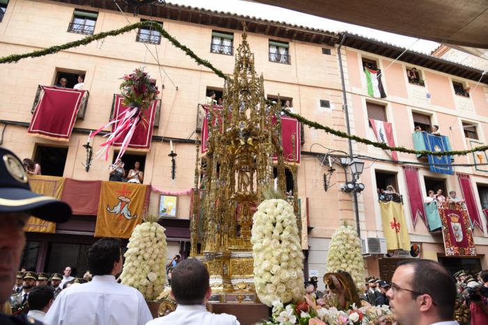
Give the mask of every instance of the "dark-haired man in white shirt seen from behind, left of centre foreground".
[[102, 238], [88, 252], [93, 280], [63, 290], [46, 314], [49, 325], [144, 325], [153, 319], [142, 294], [116, 283], [122, 271], [119, 239]]

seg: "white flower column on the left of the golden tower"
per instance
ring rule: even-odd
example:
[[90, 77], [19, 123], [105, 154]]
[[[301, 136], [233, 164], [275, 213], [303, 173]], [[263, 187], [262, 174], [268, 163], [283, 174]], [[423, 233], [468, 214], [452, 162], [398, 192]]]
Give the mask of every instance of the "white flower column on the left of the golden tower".
[[156, 220], [146, 216], [146, 222], [132, 231], [121, 274], [122, 283], [135, 287], [146, 300], [155, 300], [167, 283], [165, 228]]

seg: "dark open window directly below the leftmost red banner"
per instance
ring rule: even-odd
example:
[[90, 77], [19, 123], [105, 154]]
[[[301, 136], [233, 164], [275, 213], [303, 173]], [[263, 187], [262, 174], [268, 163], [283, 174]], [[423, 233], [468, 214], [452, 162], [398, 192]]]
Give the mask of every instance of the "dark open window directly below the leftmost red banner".
[[68, 157], [68, 148], [38, 145], [34, 161], [40, 164], [43, 175], [63, 176], [66, 157]]

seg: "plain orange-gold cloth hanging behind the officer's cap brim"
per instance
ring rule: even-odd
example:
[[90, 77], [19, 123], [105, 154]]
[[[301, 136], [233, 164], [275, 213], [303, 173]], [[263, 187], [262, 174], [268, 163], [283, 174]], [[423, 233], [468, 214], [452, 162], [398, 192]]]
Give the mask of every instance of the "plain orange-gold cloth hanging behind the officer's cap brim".
[[[34, 193], [52, 196], [53, 198], [57, 199], [61, 199], [61, 195], [63, 194], [64, 181], [64, 177], [42, 175], [29, 176], [29, 184], [31, 185], [31, 190]], [[53, 211], [52, 213], [56, 212]], [[24, 231], [49, 232], [54, 234], [54, 232], [56, 232], [56, 223], [44, 221], [36, 218], [35, 216], [31, 216], [24, 227]]]

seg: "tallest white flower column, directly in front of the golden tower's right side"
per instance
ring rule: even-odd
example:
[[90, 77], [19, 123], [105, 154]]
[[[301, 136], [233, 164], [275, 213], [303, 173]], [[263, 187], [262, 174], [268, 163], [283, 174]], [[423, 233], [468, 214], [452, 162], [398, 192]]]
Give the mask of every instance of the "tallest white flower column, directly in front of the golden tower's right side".
[[[254, 285], [266, 306], [303, 298], [303, 252], [293, 207], [285, 200], [264, 200], [252, 217]], [[282, 315], [284, 318], [284, 314]]]

